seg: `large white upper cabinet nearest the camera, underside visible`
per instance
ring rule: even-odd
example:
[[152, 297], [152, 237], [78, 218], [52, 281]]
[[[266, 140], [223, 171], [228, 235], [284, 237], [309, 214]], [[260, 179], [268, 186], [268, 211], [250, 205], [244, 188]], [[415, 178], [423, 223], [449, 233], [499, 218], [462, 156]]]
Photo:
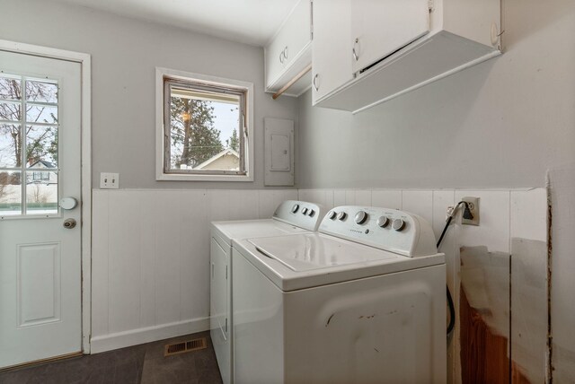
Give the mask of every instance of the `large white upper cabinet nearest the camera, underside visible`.
[[353, 113], [502, 51], [501, 0], [314, 0], [313, 104]]

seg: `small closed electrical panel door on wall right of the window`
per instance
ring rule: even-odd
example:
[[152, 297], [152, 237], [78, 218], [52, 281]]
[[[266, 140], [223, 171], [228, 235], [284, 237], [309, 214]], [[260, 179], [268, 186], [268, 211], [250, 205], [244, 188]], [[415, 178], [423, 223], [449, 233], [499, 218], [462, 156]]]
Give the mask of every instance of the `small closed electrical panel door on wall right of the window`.
[[294, 185], [294, 122], [265, 118], [266, 186]]

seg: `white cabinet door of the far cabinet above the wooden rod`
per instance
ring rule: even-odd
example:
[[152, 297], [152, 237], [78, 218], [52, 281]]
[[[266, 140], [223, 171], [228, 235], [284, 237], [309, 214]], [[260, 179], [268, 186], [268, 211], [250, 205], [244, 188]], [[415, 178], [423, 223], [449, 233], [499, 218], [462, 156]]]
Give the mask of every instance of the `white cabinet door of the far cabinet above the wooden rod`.
[[266, 86], [270, 88], [311, 40], [310, 0], [300, 0], [266, 47]]

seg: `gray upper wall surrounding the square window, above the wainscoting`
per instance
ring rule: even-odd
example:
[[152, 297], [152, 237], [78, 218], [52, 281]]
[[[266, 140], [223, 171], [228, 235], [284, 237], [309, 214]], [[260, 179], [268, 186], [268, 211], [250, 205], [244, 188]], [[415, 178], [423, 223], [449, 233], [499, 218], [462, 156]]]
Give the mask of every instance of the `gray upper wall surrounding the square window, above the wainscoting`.
[[[261, 188], [263, 118], [295, 119], [296, 100], [263, 92], [263, 49], [49, 1], [0, 0], [0, 39], [92, 55], [93, 187]], [[155, 181], [155, 66], [254, 83], [255, 182]]]

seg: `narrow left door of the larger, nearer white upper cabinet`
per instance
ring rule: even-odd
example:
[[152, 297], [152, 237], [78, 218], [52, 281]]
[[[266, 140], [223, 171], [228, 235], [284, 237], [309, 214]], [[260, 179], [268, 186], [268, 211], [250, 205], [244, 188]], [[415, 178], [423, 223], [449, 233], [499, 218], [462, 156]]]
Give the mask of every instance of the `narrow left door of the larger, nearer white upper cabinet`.
[[314, 0], [313, 104], [353, 79], [350, 0]]

